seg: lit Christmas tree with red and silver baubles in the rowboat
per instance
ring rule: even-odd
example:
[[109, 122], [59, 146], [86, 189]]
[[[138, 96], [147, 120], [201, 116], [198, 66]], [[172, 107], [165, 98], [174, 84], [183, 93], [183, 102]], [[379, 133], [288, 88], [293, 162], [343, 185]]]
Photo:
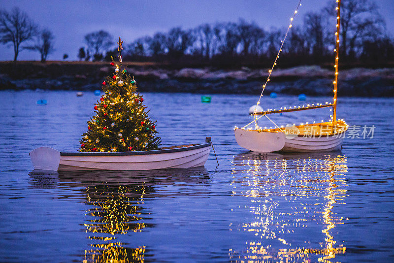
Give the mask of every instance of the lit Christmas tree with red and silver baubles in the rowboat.
[[[96, 115], [88, 121], [83, 134], [81, 152], [126, 152], [159, 149], [156, 121], [151, 121], [149, 110], [136, 92], [136, 81], [122, 68], [123, 41], [119, 37], [119, 62], [112, 59], [115, 73], [102, 82], [105, 95], [95, 103]], [[112, 58], [112, 57], [111, 57]]]

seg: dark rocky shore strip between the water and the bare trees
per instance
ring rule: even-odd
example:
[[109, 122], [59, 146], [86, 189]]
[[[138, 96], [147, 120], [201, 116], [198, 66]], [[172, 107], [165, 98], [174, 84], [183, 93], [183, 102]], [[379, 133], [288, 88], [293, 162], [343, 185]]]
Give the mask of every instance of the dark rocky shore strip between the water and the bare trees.
[[[1, 62], [0, 90], [96, 90], [113, 67], [104, 63]], [[200, 94], [258, 94], [267, 69], [171, 69], [165, 65], [129, 64], [140, 92]], [[332, 94], [333, 71], [320, 66], [297, 66], [273, 71], [266, 92], [321, 96]], [[339, 96], [394, 97], [394, 68], [340, 70]]]

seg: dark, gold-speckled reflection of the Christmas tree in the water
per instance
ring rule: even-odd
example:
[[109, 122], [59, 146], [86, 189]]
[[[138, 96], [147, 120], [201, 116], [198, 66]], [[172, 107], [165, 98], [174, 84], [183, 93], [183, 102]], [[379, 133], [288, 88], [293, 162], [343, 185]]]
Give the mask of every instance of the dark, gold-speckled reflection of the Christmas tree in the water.
[[83, 262], [145, 262], [145, 246], [126, 248], [125, 243], [116, 242], [120, 235], [139, 232], [149, 224], [144, 223], [144, 195], [152, 192], [149, 186], [99, 186], [86, 189], [88, 205], [94, 207], [87, 212], [92, 219], [84, 226], [92, 240], [90, 250], [85, 251]]

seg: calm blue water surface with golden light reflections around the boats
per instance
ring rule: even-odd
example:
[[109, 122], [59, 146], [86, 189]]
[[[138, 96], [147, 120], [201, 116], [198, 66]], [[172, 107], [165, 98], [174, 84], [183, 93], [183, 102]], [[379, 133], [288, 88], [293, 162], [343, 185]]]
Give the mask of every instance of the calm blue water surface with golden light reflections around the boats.
[[202, 104], [198, 95], [145, 94], [163, 144], [212, 136], [220, 165], [211, 151], [204, 168], [49, 173], [33, 171], [28, 152], [76, 151], [99, 97], [0, 96], [1, 262], [394, 261], [394, 99], [339, 98], [338, 117], [375, 125], [373, 138], [346, 138], [341, 152], [264, 157], [240, 148], [232, 132], [250, 121], [256, 96], [214, 95]]

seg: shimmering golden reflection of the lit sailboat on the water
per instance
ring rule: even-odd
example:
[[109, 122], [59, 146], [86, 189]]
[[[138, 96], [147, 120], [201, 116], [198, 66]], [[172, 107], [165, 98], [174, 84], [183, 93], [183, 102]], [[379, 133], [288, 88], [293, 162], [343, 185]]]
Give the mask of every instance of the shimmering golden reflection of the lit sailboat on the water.
[[247, 153], [232, 171], [233, 195], [250, 198], [255, 220], [230, 226], [251, 233], [245, 251], [230, 249], [231, 262], [329, 263], [346, 252], [333, 230], [345, 220], [334, 212], [345, 203], [345, 156]]

